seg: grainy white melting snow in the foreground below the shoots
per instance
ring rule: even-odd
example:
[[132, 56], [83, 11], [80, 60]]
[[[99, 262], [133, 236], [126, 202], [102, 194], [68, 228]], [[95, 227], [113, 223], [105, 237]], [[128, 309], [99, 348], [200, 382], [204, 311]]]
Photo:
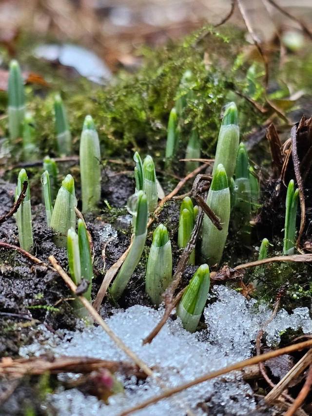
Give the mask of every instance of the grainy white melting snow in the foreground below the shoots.
[[[227, 287], [215, 286], [213, 293], [217, 300], [204, 312], [208, 329], [197, 334], [187, 333], [177, 319], [168, 321], [151, 344], [142, 345], [142, 339], [155, 327], [163, 311], [139, 305], [117, 311], [107, 319], [107, 323], [132, 351], [155, 369], [167, 387], [174, 387], [250, 357], [257, 332], [271, 315], [268, 306], [259, 306], [254, 300], [247, 301]], [[278, 343], [280, 333], [287, 328], [312, 332], [308, 308], [297, 308], [291, 315], [281, 310], [267, 328], [269, 343]], [[67, 331], [62, 341], [56, 336], [49, 336], [42, 345], [41, 339], [36, 344], [21, 348], [20, 355], [39, 355], [47, 350], [57, 356], [129, 361], [100, 327], [93, 326], [81, 332]], [[161, 393], [151, 377], [146, 382], [137, 382], [135, 377], [123, 381], [125, 393], [110, 397], [108, 405], [94, 396], [84, 396], [76, 389], [60, 389], [49, 400], [62, 416], [114, 416]], [[241, 374], [235, 372], [222, 379], [219, 377], [196, 385], [135, 415], [180, 416], [186, 413], [187, 408], [192, 409], [195, 415], [202, 415], [198, 403], [204, 401], [212, 408], [212, 414], [246, 415], [256, 408], [252, 389], [242, 380]]]

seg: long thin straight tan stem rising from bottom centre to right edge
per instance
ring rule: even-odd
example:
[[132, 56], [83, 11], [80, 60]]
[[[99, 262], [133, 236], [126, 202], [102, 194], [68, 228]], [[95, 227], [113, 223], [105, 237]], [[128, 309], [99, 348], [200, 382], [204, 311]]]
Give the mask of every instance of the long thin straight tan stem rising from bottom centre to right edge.
[[299, 344], [294, 344], [288, 347], [280, 348], [275, 351], [270, 351], [269, 353], [262, 354], [261, 356], [255, 356], [252, 358], [245, 359], [243, 361], [239, 361], [235, 364], [229, 365], [228, 367], [221, 368], [220, 370], [213, 371], [212, 373], [204, 374], [203, 376], [195, 378], [192, 381], [189, 381], [185, 384], [174, 387], [173, 389], [167, 390], [159, 396], [151, 397], [150, 399], [138, 404], [137, 406], [132, 407], [122, 412], [120, 416], [130, 415], [131, 413], [136, 412], [137, 410], [140, 410], [140, 409], [144, 409], [145, 407], [150, 406], [151, 404], [156, 403], [157, 401], [162, 400], [163, 398], [173, 396], [176, 393], [182, 392], [183, 390], [186, 390], [192, 386], [195, 386], [196, 384], [200, 384], [200, 383], [203, 383], [204, 381], [211, 380], [212, 378], [222, 376], [223, 374], [230, 373], [231, 371], [241, 370], [244, 367], [258, 364], [259, 362], [267, 361], [270, 358], [278, 357], [283, 354], [289, 354], [294, 351], [300, 351], [300, 350], [303, 350], [304, 348], [309, 348], [311, 346], [312, 346], [312, 339], [310, 339], [309, 341], [300, 342]]

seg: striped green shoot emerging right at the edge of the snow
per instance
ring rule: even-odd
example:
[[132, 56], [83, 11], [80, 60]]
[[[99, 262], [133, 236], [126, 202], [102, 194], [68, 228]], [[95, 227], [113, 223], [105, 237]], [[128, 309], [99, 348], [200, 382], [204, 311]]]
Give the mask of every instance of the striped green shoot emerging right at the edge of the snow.
[[183, 327], [189, 332], [195, 332], [197, 329], [207, 301], [209, 286], [209, 267], [207, 264], [202, 264], [190, 280], [176, 310], [177, 316], [181, 318]]

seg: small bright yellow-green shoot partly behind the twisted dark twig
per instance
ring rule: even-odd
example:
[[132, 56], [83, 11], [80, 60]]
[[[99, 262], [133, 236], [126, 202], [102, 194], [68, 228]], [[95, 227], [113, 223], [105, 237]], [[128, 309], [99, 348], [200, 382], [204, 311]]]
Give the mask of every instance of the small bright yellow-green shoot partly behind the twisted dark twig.
[[[190, 197], [183, 198], [180, 207], [179, 229], [177, 245], [179, 248], [186, 247], [191, 238], [195, 223], [193, 202]], [[188, 264], [195, 264], [195, 250], [192, 251]]]

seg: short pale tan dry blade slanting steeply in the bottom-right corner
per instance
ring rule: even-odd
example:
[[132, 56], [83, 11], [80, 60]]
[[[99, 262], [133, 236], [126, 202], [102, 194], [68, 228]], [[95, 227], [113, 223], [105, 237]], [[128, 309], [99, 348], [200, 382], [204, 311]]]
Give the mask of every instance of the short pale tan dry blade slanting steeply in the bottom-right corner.
[[284, 376], [270, 393], [265, 396], [265, 401], [268, 404], [273, 404], [282, 392], [287, 388], [291, 381], [297, 378], [301, 373], [305, 371], [309, 365], [312, 364], [312, 349], [309, 350], [293, 367], [292, 369]]

